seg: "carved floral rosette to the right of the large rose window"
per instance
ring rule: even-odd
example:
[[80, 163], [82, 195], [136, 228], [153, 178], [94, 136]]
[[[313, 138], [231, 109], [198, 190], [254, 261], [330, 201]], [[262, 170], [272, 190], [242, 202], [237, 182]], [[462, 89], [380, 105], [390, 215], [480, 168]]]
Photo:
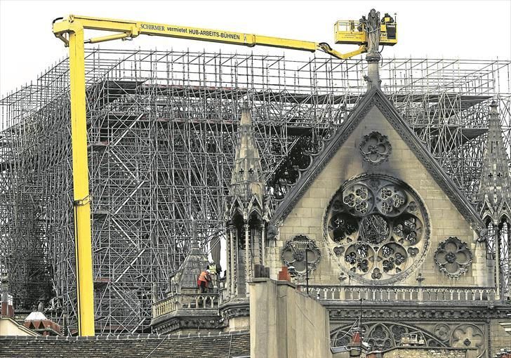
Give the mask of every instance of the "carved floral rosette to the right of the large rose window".
[[472, 251], [458, 237], [449, 237], [434, 252], [434, 262], [440, 272], [451, 278], [460, 277], [472, 265]]

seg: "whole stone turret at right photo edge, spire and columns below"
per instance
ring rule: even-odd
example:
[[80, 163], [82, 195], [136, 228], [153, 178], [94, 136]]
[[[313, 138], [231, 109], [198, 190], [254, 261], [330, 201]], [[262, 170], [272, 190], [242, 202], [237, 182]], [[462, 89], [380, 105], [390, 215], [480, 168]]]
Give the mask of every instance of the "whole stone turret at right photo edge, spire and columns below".
[[505, 263], [510, 253], [507, 237], [510, 232], [511, 176], [502, 138], [502, 128], [500, 128], [497, 103], [491, 102], [490, 108], [488, 138], [477, 201], [479, 213], [486, 224], [489, 262], [495, 262], [497, 266], [495, 284], [499, 287], [500, 297], [509, 298], [510, 270]]

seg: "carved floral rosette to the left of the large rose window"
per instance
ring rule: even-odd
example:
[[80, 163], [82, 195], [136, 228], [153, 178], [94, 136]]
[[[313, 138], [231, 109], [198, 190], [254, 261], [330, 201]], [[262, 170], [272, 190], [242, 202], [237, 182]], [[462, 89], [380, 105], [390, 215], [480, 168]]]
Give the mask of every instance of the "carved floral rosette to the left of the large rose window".
[[281, 256], [287, 267], [294, 267], [295, 270], [289, 272], [291, 276], [301, 279], [307, 274], [307, 266], [309, 274], [316, 269], [321, 260], [321, 251], [314, 241], [305, 235], [298, 235], [286, 242]]

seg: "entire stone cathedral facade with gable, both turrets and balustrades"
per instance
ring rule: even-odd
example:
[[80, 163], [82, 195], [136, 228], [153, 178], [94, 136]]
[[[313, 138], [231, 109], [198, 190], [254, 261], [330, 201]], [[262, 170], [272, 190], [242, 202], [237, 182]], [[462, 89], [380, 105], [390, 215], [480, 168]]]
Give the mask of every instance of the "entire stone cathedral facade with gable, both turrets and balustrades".
[[194, 248], [167, 298], [155, 299], [154, 330], [249, 329], [248, 284], [277, 280], [287, 266], [326, 307], [332, 345], [347, 344], [361, 317], [374, 348], [399, 346], [406, 333], [425, 347], [473, 347], [473, 357], [511, 346], [510, 270], [500, 255], [510, 245], [510, 173], [496, 105], [489, 123], [475, 207], [371, 86], [274, 203], [245, 109], [225, 206], [225, 285], [197, 293], [188, 276], [206, 256]]

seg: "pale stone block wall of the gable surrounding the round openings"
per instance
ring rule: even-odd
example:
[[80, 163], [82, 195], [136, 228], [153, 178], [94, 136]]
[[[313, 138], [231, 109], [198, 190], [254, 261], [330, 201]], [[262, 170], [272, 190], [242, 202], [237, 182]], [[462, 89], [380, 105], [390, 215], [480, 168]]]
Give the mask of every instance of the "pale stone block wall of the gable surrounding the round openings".
[[[388, 161], [379, 166], [363, 161], [359, 144], [364, 135], [378, 131], [386, 135], [392, 145], [392, 154]], [[445, 192], [428, 173], [423, 164], [411, 152], [406, 142], [394, 130], [377, 107], [362, 119], [357, 128], [347, 138], [340, 150], [322, 169], [314, 183], [306, 190], [284, 223], [279, 228], [279, 239], [276, 247], [267, 249], [267, 265], [270, 265], [272, 278], [282, 265], [281, 251], [287, 240], [298, 234], [306, 235], [316, 241], [321, 249], [321, 262], [310, 274], [310, 284], [338, 284], [340, 263], [328, 248], [328, 240], [324, 238], [324, 216], [326, 208], [340, 185], [346, 180], [363, 173], [381, 173], [404, 181], [415, 190], [424, 202], [431, 223], [430, 245], [423, 264], [409, 277], [401, 279], [397, 284], [416, 285], [418, 273], [425, 278], [423, 286], [490, 286], [491, 277], [486, 275], [484, 246], [477, 245], [475, 233], [470, 224], [450, 201]], [[307, 172], [303, 175], [308, 175]], [[458, 237], [468, 244], [472, 250], [472, 266], [456, 279], [451, 279], [439, 272], [434, 263], [434, 252], [439, 243], [448, 237]], [[349, 279], [345, 284], [359, 284]]]

